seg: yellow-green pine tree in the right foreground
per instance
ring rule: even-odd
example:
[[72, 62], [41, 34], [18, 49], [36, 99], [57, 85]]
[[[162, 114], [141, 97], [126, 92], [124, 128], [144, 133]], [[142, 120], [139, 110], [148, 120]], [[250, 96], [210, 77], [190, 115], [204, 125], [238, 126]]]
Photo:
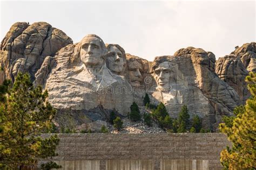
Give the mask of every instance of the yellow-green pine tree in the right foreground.
[[226, 169], [256, 169], [256, 73], [250, 72], [246, 82], [252, 96], [245, 107], [234, 110], [235, 118], [219, 125], [233, 144], [220, 153], [221, 164]]

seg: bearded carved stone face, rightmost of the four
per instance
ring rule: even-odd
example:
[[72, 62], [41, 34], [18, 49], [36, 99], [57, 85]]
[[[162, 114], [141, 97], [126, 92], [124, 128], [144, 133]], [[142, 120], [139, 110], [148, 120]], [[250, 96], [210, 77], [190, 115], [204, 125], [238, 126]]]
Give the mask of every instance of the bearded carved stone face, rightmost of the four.
[[154, 69], [154, 79], [157, 82], [158, 88], [163, 89], [161, 91], [166, 91], [170, 88], [170, 76], [171, 69], [167, 61], [160, 63], [160, 65]]

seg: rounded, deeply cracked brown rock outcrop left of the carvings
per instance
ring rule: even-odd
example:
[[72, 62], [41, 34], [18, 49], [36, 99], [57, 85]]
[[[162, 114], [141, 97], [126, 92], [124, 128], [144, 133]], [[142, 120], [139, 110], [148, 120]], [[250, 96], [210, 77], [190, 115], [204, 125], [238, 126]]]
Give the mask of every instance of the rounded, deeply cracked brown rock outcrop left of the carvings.
[[4, 76], [0, 73], [0, 82], [5, 78], [14, 81], [18, 72], [28, 72], [31, 80], [35, 80], [35, 73], [45, 57], [55, 55], [68, 44], [72, 44], [72, 39], [48, 23], [15, 23], [1, 43], [0, 63]]

